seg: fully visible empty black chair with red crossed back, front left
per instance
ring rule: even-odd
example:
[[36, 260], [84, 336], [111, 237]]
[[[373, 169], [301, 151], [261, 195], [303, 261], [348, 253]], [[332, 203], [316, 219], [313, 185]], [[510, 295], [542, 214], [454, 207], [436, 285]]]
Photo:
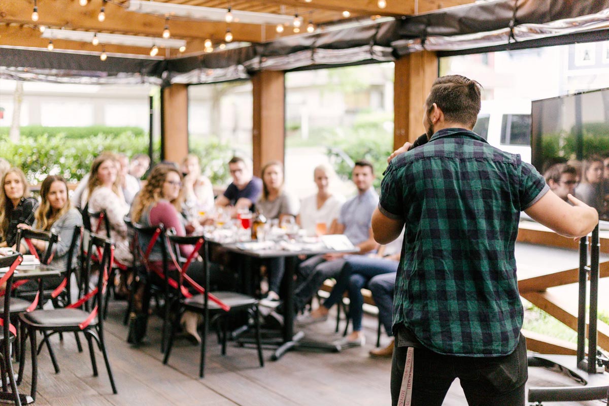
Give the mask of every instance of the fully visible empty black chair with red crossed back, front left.
[[31, 396], [36, 397], [38, 383], [37, 366], [37, 343], [36, 332], [41, 331], [47, 335], [58, 332], [83, 332], [89, 346], [91, 365], [93, 366], [93, 376], [97, 376], [97, 363], [93, 349], [93, 340], [96, 341], [108, 371], [110, 385], [113, 393], [117, 393], [114, 377], [110, 368], [110, 360], [104, 340], [104, 293], [107, 287], [108, 275], [112, 267], [114, 247], [110, 240], [91, 234], [89, 236], [88, 249], [86, 251], [86, 262], [83, 267], [82, 281], [88, 281], [93, 265], [93, 256], [99, 259], [99, 278], [97, 287], [89, 292], [88, 283], [83, 284], [83, 296], [76, 303], [69, 304], [64, 309], [52, 310], [33, 310], [32, 312], [21, 313], [21, 362], [19, 363], [19, 379], [23, 378], [25, 365], [25, 340], [26, 329], [30, 337], [32, 354], [32, 389]]

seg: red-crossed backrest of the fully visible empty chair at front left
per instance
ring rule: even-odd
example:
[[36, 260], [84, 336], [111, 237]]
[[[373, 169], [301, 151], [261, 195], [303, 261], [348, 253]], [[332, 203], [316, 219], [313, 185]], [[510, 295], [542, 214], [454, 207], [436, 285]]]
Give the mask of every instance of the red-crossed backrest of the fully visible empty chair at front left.
[[[99, 261], [94, 261], [94, 257], [97, 255]], [[93, 304], [99, 304], [98, 306], [98, 320], [99, 323], [102, 323], [104, 319], [104, 306], [101, 306], [104, 303], [104, 295], [105, 286], [108, 281], [108, 275], [110, 273], [111, 262], [113, 261], [114, 256], [114, 247], [110, 239], [106, 237], [99, 236], [97, 234], [90, 234], [89, 243], [86, 251], [86, 261], [85, 266], [83, 267], [83, 274], [81, 276], [81, 280], [83, 281], [83, 296], [87, 296], [89, 294], [89, 278], [91, 276], [91, 268], [93, 264], [99, 264], [99, 278], [97, 278], [97, 292], [93, 296]], [[85, 310], [91, 311], [91, 301], [85, 301], [83, 303], [85, 306]]]

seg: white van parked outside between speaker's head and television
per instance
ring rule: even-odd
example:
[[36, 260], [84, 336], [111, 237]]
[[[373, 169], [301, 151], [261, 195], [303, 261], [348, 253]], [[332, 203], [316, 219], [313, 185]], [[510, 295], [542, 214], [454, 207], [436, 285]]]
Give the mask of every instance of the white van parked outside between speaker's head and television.
[[474, 133], [493, 147], [518, 153], [524, 162], [531, 161], [530, 100], [484, 100]]

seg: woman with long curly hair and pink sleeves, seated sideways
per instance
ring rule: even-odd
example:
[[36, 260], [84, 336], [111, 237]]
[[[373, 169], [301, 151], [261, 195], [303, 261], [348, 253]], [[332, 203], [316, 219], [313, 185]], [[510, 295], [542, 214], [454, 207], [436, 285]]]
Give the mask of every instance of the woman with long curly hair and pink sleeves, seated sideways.
[[[186, 235], [186, 220], [180, 214], [182, 210], [182, 176], [181, 173], [171, 165], [159, 164], [153, 167], [146, 186], [139, 192], [139, 195], [133, 202], [133, 211], [131, 219], [135, 223], [144, 226], [157, 226], [163, 224], [166, 229], [175, 229], [177, 236]], [[146, 251], [149, 241], [145, 239], [139, 240], [139, 245], [143, 251]], [[191, 245], [181, 245], [181, 254], [188, 257], [194, 247]], [[153, 267], [163, 266], [160, 245], [156, 244], [150, 252], [149, 261]], [[170, 270], [175, 271], [174, 265], [169, 261]], [[203, 284], [203, 262], [192, 261], [186, 270], [186, 273], [194, 279], [195, 282]], [[217, 283], [217, 274], [210, 273], [209, 279], [211, 284]], [[185, 324], [186, 331], [194, 338], [195, 341], [201, 342], [201, 338], [197, 333], [196, 313], [186, 312], [182, 317], [182, 324]]]

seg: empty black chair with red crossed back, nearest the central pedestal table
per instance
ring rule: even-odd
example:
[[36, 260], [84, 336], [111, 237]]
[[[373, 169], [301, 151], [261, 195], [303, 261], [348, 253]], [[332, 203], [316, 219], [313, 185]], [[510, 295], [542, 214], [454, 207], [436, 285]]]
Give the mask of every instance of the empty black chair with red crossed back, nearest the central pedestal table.
[[[205, 376], [205, 351], [207, 344], [207, 336], [209, 332], [210, 315], [214, 313], [219, 315], [219, 321], [222, 325], [222, 355], [226, 355], [227, 345], [227, 323], [222, 321], [222, 318], [227, 317], [234, 312], [248, 312], [254, 320], [255, 334], [256, 334], [256, 346], [258, 349], [258, 360], [260, 366], [264, 366], [264, 359], [262, 357], [262, 345], [260, 340], [260, 323], [258, 313], [258, 299], [252, 296], [244, 295], [236, 292], [209, 292], [209, 247], [202, 236], [189, 236], [189, 237], [178, 237], [173, 234], [167, 235], [167, 239], [170, 242], [171, 250], [169, 253], [172, 255], [172, 262], [178, 270], [177, 288], [175, 289], [178, 295], [178, 306], [179, 310], [174, 319], [172, 325], [171, 334], [169, 335], [169, 343], [167, 343], [167, 349], [163, 358], [163, 363], [167, 364], [169, 361], [169, 355], [171, 355], [171, 348], [174, 343], [175, 331], [180, 323], [180, 315], [186, 310], [199, 313], [203, 316], [203, 334], [201, 335], [201, 355], [199, 360], [199, 377]], [[188, 258], [180, 258], [180, 245], [194, 245], [195, 249], [191, 256]], [[194, 257], [200, 252], [200, 248], [203, 248], [203, 273], [204, 283], [203, 286], [199, 286], [196, 282], [192, 281], [186, 273], [188, 265], [191, 264]], [[189, 286], [194, 287], [198, 295], [186, 295], [184, 281]], [[188, 297], [190, 296], [190, 297]]]

